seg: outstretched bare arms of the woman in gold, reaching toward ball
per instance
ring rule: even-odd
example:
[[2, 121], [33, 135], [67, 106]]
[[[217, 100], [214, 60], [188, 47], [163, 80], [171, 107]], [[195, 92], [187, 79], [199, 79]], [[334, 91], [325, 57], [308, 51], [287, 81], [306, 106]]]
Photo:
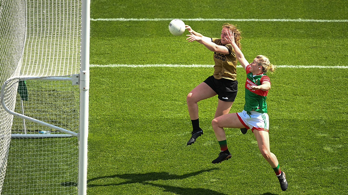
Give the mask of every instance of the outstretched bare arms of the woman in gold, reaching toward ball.
[[212, 39], [206, 36], [203, 36], [200, 33], [197, 33], [196, 31], [193, 31], [192, 28], [188, 25], [185, 25], [186, 28], [189, 31], [189, 36], [186, 40], [189, 40], [189, 42], [197, 41], [200, 44], [203, 44], [208, 50], [218, 52], [221, 54], [229, 54], [230, 51], [227, 49], [227, 47], [222, 45], [217, 45], [212, 42]]

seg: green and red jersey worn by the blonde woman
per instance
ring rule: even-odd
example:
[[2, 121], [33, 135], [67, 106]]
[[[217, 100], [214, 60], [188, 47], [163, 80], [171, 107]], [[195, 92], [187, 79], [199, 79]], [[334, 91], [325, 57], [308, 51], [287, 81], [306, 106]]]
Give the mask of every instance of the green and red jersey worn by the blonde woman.
[[258, 75], [253, 75], [250, 72], [251, 65], [246, 67], [246, 82], [245, 82], [245, 111], [254, 110], [256, 112], [264, 113], [267, 112], [267, 93], [268, 91], [263, 90], [250, 90], [250, 86], [259, 86], [264, 81], [271, 83], [269, 77], [262, 73]]

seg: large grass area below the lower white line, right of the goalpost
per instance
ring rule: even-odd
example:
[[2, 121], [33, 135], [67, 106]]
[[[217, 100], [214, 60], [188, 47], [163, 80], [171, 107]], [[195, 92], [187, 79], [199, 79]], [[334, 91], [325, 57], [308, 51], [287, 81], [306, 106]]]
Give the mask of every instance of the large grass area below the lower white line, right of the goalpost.
[[[271, 151], [287, 173], [287, 194], [347, 192], [347, 97], [338, 90], [347, 70], [330, 70], [279, 68], [270, 75]], [[210, 124], [216, 97], [199, 102], [205, 134], [186, 146], [185, 96], [209, 74], [210, 68], [92, 68], [88, 194], [281, 193], [251, 132], [226, 129], [232, 158], [211, 164], [219, 153]], [[243, 95], [231, 112], [243, 109]]]

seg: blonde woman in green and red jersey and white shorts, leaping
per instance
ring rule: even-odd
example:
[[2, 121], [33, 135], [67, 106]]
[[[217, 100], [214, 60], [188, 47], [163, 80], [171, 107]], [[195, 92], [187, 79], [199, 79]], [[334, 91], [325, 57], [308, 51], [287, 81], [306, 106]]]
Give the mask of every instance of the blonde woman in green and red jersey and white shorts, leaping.
[[219, 157], [213, 160], [212, 163], [220, 163], [232, 156], [227, 148], [224, 127], [251, 129], [262, 156], [275, 171], [280, 187], [285, 191], [288, 185], [285, 173], [280, 170], [277, 157], [270, 152], [269, 147], [269, 119], [266, 99], [268, 90], [271, 88], [271, 82], [266, 72], [274, 71], [274, 66], [270, 64], [267, 57], [262, 55], [256, 56], [252, 63], [248, 63], [242, 51], [234, 42], [233, 32], [228, 31], [228, 36], [224, 39], [232, 45], [240, 65], [246, 70], [245, 105], [242, 112], [229, 113], [212, 120], [214, 133], [221, 149]]

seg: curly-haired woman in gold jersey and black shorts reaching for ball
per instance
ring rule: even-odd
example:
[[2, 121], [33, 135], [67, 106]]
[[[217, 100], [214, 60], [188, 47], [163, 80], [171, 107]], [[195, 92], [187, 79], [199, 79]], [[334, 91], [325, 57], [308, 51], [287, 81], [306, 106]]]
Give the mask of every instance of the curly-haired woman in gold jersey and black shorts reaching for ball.
[[192, 28], [186, 25], [189, 31], [188, 42], [197, 41], [203, 44], [210, 51], [214, 52], [213, 59], [215, 62], [214, 73], [208, 77], [204, 82], [193, 88], [187, 95], [186, 102], [189, 110], [190, 119], [192, 122], [191, 138], [187, 142], [187, 145], [193, 144], [197, 137], [203, 134], [203, 130], [199, 127], [198, 119], [198, 104], [201, 100], [208, 99], [218, 95], [217, 108], [214, 118], [229, 113], [233, 102], [237, 96], [238, 82], [236, 78], [236, 66], [237, 58], [235, 50], [232, 45], [229, 44], [224, 38], [228, 36], [228, 32], [232, 31], [235, 34], [235, 43], [238, 48], [241, 49], [240, 36], [241, 32], [236, 26], [225, 23], [222, 25], [221, 38], [209, 38], [203, 36], [192, 30]]

